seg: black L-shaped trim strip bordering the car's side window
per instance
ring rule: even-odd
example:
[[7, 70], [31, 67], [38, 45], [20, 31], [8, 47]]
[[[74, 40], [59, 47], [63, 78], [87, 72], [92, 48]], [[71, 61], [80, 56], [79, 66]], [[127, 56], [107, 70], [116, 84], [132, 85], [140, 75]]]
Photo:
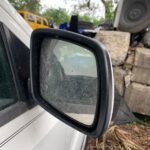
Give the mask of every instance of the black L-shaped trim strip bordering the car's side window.
[[[29, 109], [26, 97], [23, 91], [23, 88], [20, 84], [19, 76], [17, 74], [17, 68], [15, 67], [15, 63], [12, 56], [12, 42], [9, 30], [5, 27], [5, 25], [0, 22], [0, 34], [5, 46], [6, 54], [8, 57], [9, 65], [11, 68], [13, 81], [16, 88], [16, 96], [17, 96], [17, 102], [8, 106], [7, 108], [0, 111], [0, 127], [4, 124], [8, 123], [12, 119], [18, 117], [22, 113], [24, 113], [27, 109]], [[20, 109], [21, 108], [21, 109]], [[13, 113], [12, 113], [13, 112]]]

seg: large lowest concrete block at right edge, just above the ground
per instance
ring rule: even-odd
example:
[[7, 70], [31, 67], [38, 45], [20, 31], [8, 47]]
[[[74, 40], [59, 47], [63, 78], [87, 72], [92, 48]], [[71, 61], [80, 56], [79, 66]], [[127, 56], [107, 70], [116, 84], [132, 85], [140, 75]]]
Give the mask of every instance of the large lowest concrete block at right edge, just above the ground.
[[126, 89], [125, 101], [133, 112], [150, 115], [150, 86], [132, 83]]

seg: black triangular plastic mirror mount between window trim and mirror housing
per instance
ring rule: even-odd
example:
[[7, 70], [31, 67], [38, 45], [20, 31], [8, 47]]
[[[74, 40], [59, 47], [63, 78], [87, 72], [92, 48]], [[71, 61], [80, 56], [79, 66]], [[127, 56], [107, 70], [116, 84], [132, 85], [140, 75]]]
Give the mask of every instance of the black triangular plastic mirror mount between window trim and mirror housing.
[[28, 108], [32, 108], [36, 103], [32, 98], [30, 89], [30, 49], [4, 24], [3, 29], [10, 55], [10, 64], [16, 78], [15, 82], [19, 93], [19, 100], [26, 102]]

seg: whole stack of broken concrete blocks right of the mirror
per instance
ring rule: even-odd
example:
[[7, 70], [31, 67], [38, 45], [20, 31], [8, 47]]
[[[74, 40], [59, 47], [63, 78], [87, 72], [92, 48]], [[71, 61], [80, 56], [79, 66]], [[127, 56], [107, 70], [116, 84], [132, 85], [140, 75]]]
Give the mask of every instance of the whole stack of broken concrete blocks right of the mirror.
[[96, 35], [110, 53], [115, 88], [133, 112], [150, 116], [150, 49], [129, 47], [130, 33], [100, 31]]

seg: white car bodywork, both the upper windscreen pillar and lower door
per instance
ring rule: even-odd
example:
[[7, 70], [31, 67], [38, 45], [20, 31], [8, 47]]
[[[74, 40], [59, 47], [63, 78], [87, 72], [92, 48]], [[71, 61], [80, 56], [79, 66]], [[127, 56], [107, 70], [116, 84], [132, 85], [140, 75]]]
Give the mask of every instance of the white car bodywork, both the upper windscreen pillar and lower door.
[[[0, 22], [28, 48], [32, 29], [9, 4], [0, 1]], [[86, 136], [36, 106], [0, 127], [1, 150], [80, 150]], [[84, 143], [84, 144], [83, 144]]]

